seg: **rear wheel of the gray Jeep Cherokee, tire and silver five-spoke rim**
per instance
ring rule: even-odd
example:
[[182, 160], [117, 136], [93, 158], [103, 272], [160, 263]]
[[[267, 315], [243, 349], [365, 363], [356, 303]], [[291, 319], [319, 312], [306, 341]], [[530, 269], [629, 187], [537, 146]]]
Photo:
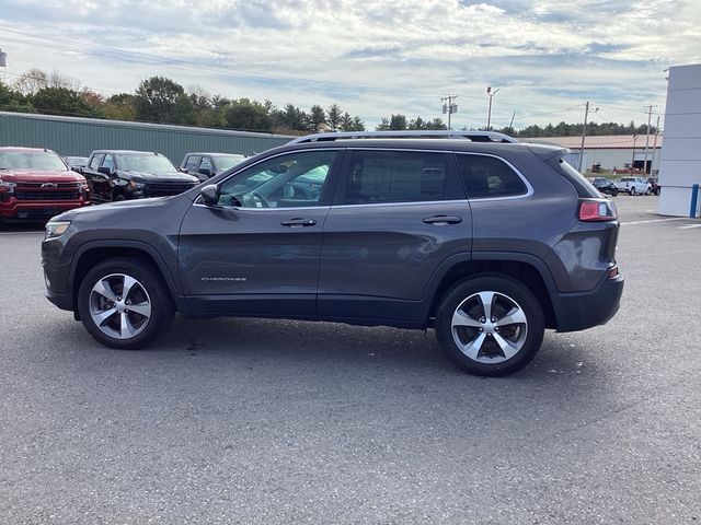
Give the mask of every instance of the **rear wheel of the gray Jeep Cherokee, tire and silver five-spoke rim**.
[[441, 301], [436, 334], [444, 353], [466, 372], [507, 375], [540, 349], [544, 320], [526, 287], [501, 276], [463, 281]]

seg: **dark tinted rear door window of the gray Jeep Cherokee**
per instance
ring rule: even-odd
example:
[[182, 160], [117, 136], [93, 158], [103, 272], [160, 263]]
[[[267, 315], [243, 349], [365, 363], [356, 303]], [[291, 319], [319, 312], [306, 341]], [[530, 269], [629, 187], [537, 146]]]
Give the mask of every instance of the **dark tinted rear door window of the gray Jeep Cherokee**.
[[341, 202], [366, 205], [464, 198], [445, 153], [355, 151]]

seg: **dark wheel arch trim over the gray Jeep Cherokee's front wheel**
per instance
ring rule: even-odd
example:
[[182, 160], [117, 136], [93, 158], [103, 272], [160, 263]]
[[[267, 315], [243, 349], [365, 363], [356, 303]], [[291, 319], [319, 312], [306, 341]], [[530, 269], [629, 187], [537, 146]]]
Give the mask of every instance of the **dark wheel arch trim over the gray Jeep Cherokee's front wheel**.
[[151, 245], [138, 241], [94, 241], [82, 245], [72, 258], [69, 290], [76, 315], [78, 315], [76, 307], [78, 290], [88, 271], [100, 262], [122, 257], [134, 257], [153, 266], [163, 279], [163, 283], [171, 294], [175, 308], [179, 312], [185, 312], [187, 310], [184, 300], [177, 293], [177, 287], [168, 270], [165, 261]]

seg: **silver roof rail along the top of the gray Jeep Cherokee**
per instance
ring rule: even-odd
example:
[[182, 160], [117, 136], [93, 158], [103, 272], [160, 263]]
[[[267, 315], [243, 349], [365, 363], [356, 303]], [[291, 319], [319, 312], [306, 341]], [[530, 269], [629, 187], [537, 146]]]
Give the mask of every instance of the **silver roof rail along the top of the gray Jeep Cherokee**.
[[448, 131], [440, 130], [401, 130], [401, 131], [331, 131], [327, 133], [313, 133], [299, 137], [288, 144], [301, 142], [325, 142], [338, 139], [409, 139], [409, 138], [443, 138], [443, 139], [469, 139], [472, 142], [518, 142], [513, 137], [496, 131]]

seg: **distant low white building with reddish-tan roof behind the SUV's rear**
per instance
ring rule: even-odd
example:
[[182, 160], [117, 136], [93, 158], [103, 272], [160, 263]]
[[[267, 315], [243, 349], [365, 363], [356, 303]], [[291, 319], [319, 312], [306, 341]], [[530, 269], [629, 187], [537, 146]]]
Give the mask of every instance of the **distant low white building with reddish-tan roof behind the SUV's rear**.
[[[572, 153], [566, 159], [574, 167], [579, 165], [582, 137], [539, 137], [538, 139], [519, 139], [524, 142], [549, 142], [568, 148]], [[647, 144], [647, 153], [645, 153]], [[659, 168], [660, 136], [647, 135], [599, 135], [586, 137], [584, 141], [584, 159], [582, 171], [590, 171], [598, 165], [601, 170], [613, 170], [633, 166], [643, 170], [647, 156], [647, 173], [655, 174]]]

